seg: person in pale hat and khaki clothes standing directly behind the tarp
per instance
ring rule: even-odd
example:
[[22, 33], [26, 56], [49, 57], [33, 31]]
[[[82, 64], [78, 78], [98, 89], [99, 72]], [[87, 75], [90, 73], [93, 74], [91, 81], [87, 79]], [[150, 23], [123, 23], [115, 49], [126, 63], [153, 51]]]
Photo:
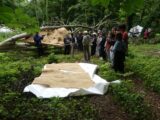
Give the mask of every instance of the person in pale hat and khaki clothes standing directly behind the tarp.
[[84, 60], [86, 62], [89, 62], [90, 61], [90, 50], [89, 50], [89, 48], [90, 48], [90, 45], [91, 45], [91, 38], [88, 34], [88, 31], [83, 32], [82, 43], [83, 43]]

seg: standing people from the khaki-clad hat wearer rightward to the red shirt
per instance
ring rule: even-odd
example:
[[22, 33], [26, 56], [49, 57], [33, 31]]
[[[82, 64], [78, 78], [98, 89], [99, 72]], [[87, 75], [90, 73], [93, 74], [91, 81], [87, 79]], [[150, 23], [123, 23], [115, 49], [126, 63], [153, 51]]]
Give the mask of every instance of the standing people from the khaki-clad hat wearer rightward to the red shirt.
[[92, 34], [84, 31], [82, 36], [82, 49], [86, 62], [90, 61], [90, 56], [95, 55], [110, 62], [115, 71], [124, 73], [124, 61], [128, 53], [128, 33], [125, 24], [113, 27], [107, 33], [101, 30]]

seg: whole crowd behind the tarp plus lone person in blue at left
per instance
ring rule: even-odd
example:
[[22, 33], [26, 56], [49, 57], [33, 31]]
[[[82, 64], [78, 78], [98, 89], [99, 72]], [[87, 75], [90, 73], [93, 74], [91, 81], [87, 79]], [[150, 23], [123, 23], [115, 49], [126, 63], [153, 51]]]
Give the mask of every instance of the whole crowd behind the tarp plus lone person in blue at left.
[[[38, 33], [34, 36], [38, 53], [43, 53], [41, 40], [43, 36]], [[91, 56], [98, 56], [100, 59], [111, 63], [115, 71], [124, 73], [124, 61], [128, 52], [128, 33], [125, 24], [113, 27], [107, 33], [88, 32], [69, 34], [64, 37], [64, 54], [74, 54], [74, 49], [84, 53], [84, 61], [90, 62]]]

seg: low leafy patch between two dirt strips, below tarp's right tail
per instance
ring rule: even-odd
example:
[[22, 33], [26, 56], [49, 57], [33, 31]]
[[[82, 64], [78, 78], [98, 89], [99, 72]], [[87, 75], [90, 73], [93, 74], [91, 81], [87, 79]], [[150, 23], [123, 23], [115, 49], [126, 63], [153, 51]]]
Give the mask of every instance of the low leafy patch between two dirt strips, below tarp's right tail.
[[142, 94], [133, 91], [131, 81], [124, 81], [120, 85], [112, 84], [110, 88], [114, 100], [124, 107], [134, 120], [151, 120], [149, 106], [144, 102]]

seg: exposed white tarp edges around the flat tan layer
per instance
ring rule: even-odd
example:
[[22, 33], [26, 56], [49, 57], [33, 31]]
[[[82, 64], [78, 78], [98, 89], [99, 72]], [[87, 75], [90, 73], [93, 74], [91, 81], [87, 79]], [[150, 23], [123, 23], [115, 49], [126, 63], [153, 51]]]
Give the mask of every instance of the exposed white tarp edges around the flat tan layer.
[[[97, 65], [88, 63], [79, 63], [80, 67], [89, 74], [91, 80], [94, 82], [89, 88], [51, 88], [40, 84], [31, 84], [25, 87], [24, 92], [31, 92], [38, 98], [51, 98], [51, 97], [67, 97], [67, 96], [80, 96], [97, 94], [103, 95], [107, 92], [110, 82], [102, 79], [95, 74]], [[44, 67], [45, 68], [45, 67]], [[74, 70], [73, 70], [74, 71]], [[70, 71], [69, 71], [70, 72]], [[79, 76], [81, 77], [81, 76]], [[118, 81], [119, 82], [119, 81]]]

